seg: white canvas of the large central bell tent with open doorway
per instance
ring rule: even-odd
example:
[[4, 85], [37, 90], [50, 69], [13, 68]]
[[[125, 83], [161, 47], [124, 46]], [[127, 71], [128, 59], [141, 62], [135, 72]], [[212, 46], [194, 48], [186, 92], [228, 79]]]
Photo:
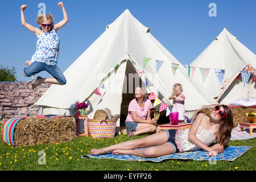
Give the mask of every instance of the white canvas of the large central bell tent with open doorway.
[[[188, 80], [186, 69], [149, 30], [125, 10], [64, 72], [67, 84], [52, 85], [35, 105], [43, 108], [42, 114], [73, 115], [77, 111], [76, 101], [89, 101], [89, 118], [93, 117], [94, 111], [104, 107], [108, 107], [112, 114], [119, 114], [130, 65], [136, 72], [144, 71], [141, 81], [147, 81], [147, 89], [168, 106], [172, 104], [168, 97], [175, 82], [183, 85], [186, 110], [216, 104], [201, 84]], [[144, 57], [149, 58], [146, 65]], [[156, 60], [163, 60], [157, 73]], [[171, 63], [179, 64], [175, 75]], [[133, 90], [134, 84], [131, 87], [127, 89]], [[101, 96], [94, 94], [97, 88], [100, 88]], [[134, 97], [134, 91], [130, 97], [132, 95]]]

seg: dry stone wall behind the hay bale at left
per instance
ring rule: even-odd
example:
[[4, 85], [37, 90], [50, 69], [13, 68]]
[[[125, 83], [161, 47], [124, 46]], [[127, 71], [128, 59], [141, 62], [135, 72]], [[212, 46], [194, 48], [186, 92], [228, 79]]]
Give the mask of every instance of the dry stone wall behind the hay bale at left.
[[32, 90], [31, 82], [0, 82], [0, 122], [14, 117], [38, 115], [39, 107], [33, 104], [50, 86], [41, 84]]

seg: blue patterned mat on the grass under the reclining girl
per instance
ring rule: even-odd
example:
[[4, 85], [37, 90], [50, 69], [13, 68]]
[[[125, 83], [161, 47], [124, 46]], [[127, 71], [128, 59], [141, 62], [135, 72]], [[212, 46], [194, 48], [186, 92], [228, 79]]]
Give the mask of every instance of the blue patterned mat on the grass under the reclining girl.
[[[249, 150], [250, 146], [230, 146], [225, 149], [224, 152], [218, 154], [217, 156], [208, 156], [207, 151], [189, 151], [189, 152], [181, 152], [176, 154], [164, 155], [158, 158], [142, 158], [139, 156], [133, 155], [113, 155], [105, 154], [105, 155], [82, 155], [82, 159], [86, 158], [94, 158], [94, 159], [115, 159], [115, 160], [130, 160], [130, 161], [151, 161], [151, 162], [162, 162], [163, 160], [167, 159], [192, 159], [192, 160], [209, 160], [209, 161], [216, 161], [216, 160], [228, 160], [234, 161], [243, 154], [247, 150]], [[136, 149], [135, 149], [136, 150]]]

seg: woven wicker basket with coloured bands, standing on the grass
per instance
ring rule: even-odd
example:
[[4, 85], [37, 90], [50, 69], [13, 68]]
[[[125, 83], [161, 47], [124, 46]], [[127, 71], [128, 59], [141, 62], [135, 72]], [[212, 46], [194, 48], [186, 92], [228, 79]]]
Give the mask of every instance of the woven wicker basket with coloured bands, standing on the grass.
[[117, 119], [88, 119], [92, 138], [114, 138]]

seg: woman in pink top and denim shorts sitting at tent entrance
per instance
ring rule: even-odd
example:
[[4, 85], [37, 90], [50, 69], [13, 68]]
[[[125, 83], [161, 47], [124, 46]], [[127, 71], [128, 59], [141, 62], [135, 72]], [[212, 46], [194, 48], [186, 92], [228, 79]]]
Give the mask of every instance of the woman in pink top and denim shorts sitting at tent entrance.
[[152, 103], [147, 98], [147, 90], [143, 86], [135, 89], [135, 98], [128, 107], [128, 115], [125, 121], [127, 137], [158, 130], [154, 123], [158, 118], [151, 119], [150, 109]]

